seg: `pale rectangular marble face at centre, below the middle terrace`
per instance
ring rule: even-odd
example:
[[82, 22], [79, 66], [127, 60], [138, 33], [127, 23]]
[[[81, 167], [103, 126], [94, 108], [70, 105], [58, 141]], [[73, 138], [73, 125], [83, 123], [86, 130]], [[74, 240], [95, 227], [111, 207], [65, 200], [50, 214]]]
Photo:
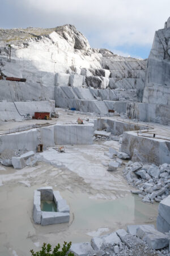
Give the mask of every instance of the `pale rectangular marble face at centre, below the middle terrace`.
[[94, 125], [62, 125], [54, 126], [54, 141], [56, 144], [92, 144]]

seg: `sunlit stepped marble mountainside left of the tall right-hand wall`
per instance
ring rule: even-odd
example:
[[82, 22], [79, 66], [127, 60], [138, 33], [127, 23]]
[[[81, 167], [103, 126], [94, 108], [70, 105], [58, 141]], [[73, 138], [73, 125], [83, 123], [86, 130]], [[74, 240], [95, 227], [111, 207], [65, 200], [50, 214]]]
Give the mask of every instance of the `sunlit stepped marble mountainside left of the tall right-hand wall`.
[[[2, 120], [20, 118], [15, 112], [6, 117], [3, 113], [15, 109], [13, 102], [22, 102], [22, 114], [35, 111], [34, 105], [24, 109], [27, 101], [49, 102], [50, 113], [55, 101], [61, 108], [108, 115], [109, 109], [125, 114], [127, 102], [142, 101], [147, 61], [93, 49], [72, 25], [0, 29], [0, 38]], [[24, 78], [26, 82], [6, 81], [5, 77]]]

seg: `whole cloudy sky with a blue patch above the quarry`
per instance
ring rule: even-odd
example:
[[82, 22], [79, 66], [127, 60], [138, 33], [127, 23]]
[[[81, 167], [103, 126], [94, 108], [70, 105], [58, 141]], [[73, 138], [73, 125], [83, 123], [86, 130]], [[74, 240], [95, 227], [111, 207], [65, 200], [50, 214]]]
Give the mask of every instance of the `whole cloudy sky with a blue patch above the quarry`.
[[0, 27], [73, 24], [91, 47], [146, 58], [170, 0], [0, 0]]

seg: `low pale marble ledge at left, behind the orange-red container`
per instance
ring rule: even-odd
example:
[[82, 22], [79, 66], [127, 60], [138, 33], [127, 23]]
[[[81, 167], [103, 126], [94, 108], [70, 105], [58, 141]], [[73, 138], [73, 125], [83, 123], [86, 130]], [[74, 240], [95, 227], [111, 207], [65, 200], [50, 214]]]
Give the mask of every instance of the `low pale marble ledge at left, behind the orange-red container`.
[[34, 115], [35, 112], [54, 112], [54, 101], [16, 101], [15, 105], [13, 102], [0, 102], [0, 120], [24, 119], [27, 114]]

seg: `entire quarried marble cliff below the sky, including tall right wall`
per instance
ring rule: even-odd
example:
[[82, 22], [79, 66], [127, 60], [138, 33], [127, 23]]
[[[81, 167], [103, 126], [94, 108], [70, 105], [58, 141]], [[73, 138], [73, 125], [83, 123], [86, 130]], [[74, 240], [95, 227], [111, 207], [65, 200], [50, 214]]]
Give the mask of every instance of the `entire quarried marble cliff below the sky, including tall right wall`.
[[[85, 36], [69, 24], [46, 29], [1, 29], [0, 100], [54, 100], [58, 107], [98, 114], [107, 114], [113, 106], [128, 117], [167, 124], [169, 35], [170, 19], [164, 29], [155, 32], [148, 60], [138, 60], [91, 48]], [[27, 81], [20, 86], [20, 82], [6, 81], [6, 76]], [[2, 113], [7, 105], [2, 106]]]

